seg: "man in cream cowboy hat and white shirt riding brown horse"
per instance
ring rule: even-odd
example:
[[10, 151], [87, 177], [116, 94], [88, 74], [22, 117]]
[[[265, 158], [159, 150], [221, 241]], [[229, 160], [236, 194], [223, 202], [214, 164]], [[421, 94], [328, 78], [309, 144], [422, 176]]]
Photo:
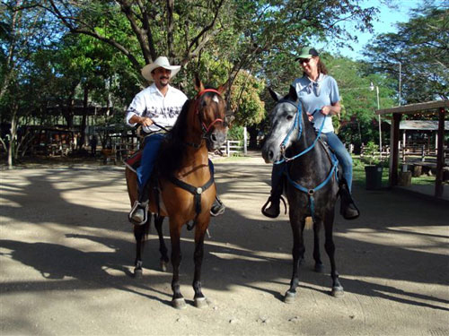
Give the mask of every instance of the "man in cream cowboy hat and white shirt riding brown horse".
[[[180, 65], [170, 65], [165, 56], [159, 56], [154, 63], [145, 65], [141, 73], [153, 84], [137, 93], [127, 110], [126, 123], [130, 126], [142, 125], [146, 134], [141, 165], [136, 169], [138, 202], [129, 213], [129, 220], [137, 225], [145, 224], [149, 200], [147, 184], [163, 141], [163, 128], [174, 125], [187, 100], [182, 91], [169, 84], [179, 71]], [[225, 205], [217, 197], [210, 212], [217, 216], [224, 211]]]

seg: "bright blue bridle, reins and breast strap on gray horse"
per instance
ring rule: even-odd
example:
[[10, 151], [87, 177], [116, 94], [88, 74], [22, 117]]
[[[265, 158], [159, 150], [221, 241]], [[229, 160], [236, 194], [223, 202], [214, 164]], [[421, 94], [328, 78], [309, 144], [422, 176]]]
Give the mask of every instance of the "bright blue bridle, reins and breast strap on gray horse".
[[[278, 161], [274, 162], [274, 164], [276, 164], [276, 165], [284, 163], [284, 162], [291, 161], [293, 159], [297, 159], [297, 158], [303, 156], [308, 151], [311, 151], [313, 149], [313, 147], [315, 147], [315, 144], [318, 141], [318, 139], [320, 139], [322, 128], [324, 127], [324, 122], [326, 121], [326, 117], [327, 117], [327, 116], [325, 116], [323, 118], [322, 124], [320, 126], [318, 134], [316, 135], [316, 138], [313, 141], [313, 143], [309, 147], [307, 147], [304, 151], [301, 151], [299, 154], [296, 154], [292, 158], [286, 158], [286, 154], [285, 154], [285, 152], [286, 152], [286, 143], [288, 142], [288, 140], [289, 140], [291, 134], [293, 133], [293, 131], [295, 130], [295, 128], [299, 128], [298, 136], [297, 136], [296, 140], [299, 140], [301, 135], [303, 134], [303, 118], [301, 116], [302, 108], [301, 108], [300, 104], [297, 104], [297, 106], [296, 106], [295, 103], [293, 101], [290, 101], [290, 100], [283, 100], [283, 101], [281, 100], [279, 102], [287, 102], [287, 103], [290, 103], [293, 106], [295, 106], [296, 114], [295, 114], [295, 121], [293, 123], [292, 128], [288, 131], [288, 133], [286, 134], [286, 138], [280, 144], [280, 150], [281, 150], [283, 159], [279, 159]], [[312, 116], [314, 116], [315, 113], [317, 113], [319, 111], [320, 111], [319, 109], [314, 110]], [[338, 178], [337, 177], [337, 173], [338, 173], [338, 167], [339, 167], [339, 160], [332, 153], [330, 155], [330, 160], [332, 162], [332, 168], [330, 169], [330, 173], [329, 173], [328, 177], [326, 177], [326, 179], [324, 181], [322, 181], [320, 185], [317, 185], [317, 186], [315, 186], [312, 189], [305, 188], [303, 185], [300, 185], [300, 184], [296, 183], [290, 177], [288, 169], [284, 168], [284, 170], [286, 171], [286, 177], [287, 177], [288, 182], [291, 185], [295, 186], [296, 189], [302, 191], [303, 193], [305, 193], [305, 194], [307, 194], [309, 196], [309, 207], [310, 207], [310, 211], [311, 211], [311, 215], [312, 215], [313, 221], [315, 220], [315, 218], [314, 218], [315, 204], [314, 204], [313, 194], [315, 192], [317, 192], [318, 190], [320, 190], [324, 185], [327, 185], [330, 182], [330, 178], [333, 176], [334, 173], [335, 173], [335, 177]]]

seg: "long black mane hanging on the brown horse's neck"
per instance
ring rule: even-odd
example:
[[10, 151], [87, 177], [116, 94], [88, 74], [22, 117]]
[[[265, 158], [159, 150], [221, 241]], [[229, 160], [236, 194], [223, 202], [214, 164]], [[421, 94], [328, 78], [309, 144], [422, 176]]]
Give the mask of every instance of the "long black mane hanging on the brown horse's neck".
[[163, 177], [171, 177], [185, 157], [184, 138], [188, 131], [186, 125], [190, 103], [191, 100], [184, 103], [180, 116], [161, 144], [156, 162], [157, 169]]

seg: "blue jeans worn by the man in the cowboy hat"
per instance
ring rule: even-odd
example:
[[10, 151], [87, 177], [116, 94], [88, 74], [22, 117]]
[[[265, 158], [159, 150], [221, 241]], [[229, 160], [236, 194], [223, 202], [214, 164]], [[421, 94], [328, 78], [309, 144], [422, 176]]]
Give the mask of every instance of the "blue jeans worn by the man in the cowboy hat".
[[[137, 168], [137, 184], [139, 194], [142, 194], [146, 183], [153, 173], [154, 163], [157, 158], [157, 153], [163, 142], [164, 134], [153, 134], [145, 138], [145, 147], [142, 152], [142, 159], [140, 161], [140, 167]], [[209, 159], [209, 168], [211, 174], [214, 175], [214, 164]]]

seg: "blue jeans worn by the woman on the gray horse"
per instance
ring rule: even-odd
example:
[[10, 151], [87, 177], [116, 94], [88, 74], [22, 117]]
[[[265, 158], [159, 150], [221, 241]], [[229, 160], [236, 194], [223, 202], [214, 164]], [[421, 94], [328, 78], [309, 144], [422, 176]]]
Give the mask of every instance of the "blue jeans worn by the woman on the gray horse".
[[[335, 151], [337, 159], [339, 159], [339, 164], [343, 169], [343, 177], [348, 183], [349, 192], [352, 190], [352, 158], [349, 152], [346, 150], [343, 142], [339, 140], [337, 134], [330, 132], [325, 134], [328, 137], [328, 144], [330, 148]], [[282, 173], [286, 168], [286, 163], [281, 163], [278, 165], [273, 165], [273, 170], [271, 172], [271, 188], [275, 189], [276, 185], [280, 182]]]

